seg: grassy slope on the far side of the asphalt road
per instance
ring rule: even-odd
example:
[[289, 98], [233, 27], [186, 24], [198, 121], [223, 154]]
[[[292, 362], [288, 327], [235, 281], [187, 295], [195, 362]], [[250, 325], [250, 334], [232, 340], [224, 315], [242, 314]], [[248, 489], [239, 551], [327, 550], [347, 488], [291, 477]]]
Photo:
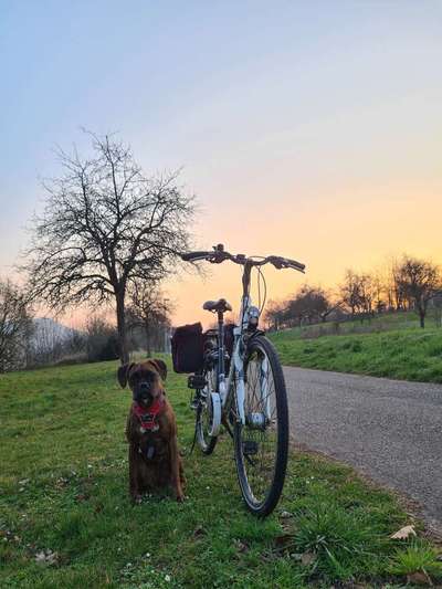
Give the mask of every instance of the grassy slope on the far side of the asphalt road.
[[271, 334], [281, 359], [302, 366], [422, 382], [442, 382], [442, 329], [415, 326], [414, 314], [382, 316], [361, 324], [347, 322]]

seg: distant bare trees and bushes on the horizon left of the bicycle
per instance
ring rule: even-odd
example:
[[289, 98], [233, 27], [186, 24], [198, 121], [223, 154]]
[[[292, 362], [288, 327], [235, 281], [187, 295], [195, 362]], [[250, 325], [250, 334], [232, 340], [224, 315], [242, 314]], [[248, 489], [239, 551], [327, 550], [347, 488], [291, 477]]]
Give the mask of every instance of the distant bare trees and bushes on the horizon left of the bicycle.
[[[127, 349], [148, 355], [165, 351], [171, 327], [171, 305], [159, 285], [131, 292], [127, 314]], [[80, 328], [36, 317], [23, 290], [0, 278], [0, 374], [119, 358], [117, 327], [104, 315], [91, 315]]]

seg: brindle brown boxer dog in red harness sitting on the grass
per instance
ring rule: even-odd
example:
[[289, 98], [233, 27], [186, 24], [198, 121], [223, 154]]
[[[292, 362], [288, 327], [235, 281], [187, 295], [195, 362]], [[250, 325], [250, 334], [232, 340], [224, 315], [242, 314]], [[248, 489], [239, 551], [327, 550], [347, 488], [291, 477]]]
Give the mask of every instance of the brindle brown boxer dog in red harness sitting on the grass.
[[167, 485], [171, 485], [177, 501], [185, 497], [177, 420], [162, 385], [166, 376], [166, 364], [158, 359], [118, 368], [118, 382], [123, 388], [128, 382], [133, 392], [126, 438], [129, 442], [129, 493], [134, 503], [140, 502], [143, 493]]

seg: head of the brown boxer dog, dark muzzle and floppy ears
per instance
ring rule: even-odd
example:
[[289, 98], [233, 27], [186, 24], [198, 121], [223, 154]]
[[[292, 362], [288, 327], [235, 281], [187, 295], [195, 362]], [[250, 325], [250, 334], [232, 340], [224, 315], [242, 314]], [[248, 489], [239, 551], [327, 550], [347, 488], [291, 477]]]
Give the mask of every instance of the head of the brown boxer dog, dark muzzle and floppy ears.
[[167, 367], [159, 359], [125, 364], [118, 368], [117, 377], [123, 388], [129, 383], [134, 401], [149, 407], [164, 392], [162, 381], [167, 377]]

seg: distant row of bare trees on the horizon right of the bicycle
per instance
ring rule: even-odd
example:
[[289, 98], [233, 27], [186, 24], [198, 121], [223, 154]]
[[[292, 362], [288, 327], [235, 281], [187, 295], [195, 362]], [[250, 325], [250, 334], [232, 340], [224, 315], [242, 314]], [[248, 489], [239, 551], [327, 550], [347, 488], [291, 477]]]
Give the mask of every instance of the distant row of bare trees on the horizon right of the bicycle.
[[403, 255], [383, 273], [347, 270], [335, 291], [303, 285], [285, 301], [271, 302], [265, 320], [270, 329], [277, 330], [329, 318], [365, 320], [387, 311], [414, 311], [423, 328], [429, 305], [441, 296], [439, 266]]

